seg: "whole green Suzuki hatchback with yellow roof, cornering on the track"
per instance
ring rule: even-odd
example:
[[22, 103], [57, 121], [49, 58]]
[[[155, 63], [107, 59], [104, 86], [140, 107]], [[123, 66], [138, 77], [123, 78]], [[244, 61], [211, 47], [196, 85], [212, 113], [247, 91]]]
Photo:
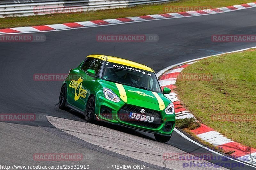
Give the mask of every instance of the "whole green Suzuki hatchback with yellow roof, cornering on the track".
[[167, 142], [175, 126], [171, 90], [159, 85], [154, 70], [129, 60], [89, 55], [63, 82], [59, 107], [94, 120], [153, 133]]

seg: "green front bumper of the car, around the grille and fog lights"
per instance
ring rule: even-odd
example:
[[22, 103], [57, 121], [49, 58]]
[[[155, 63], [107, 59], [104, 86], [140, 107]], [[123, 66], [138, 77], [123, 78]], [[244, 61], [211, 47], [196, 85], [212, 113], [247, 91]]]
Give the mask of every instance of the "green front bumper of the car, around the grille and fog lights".
[[[118, 103], [112, 102], [110, 100], [105, 99], [104, 97], [99, 97], [96, 102], [96, 109], [95, 109], [95, 119], [109, 122], [112, 124], [121, 125], [124, 127], [141, 130], [153, 134], [161, 134], [170, 136], [172, 134], [172, 131], [175, 126], [175, 114], [173, 115], [166, 115], [164, 111], [160, 112], [159, 116], [152, 116], [154, 117], [154, 122], [143, 122], [138, 120], [133, 121], [127, 121], [123, 119], [123, 117], [128, 116], [129, 110], [123, 110], [125, 103], [123, 101], [120, 101]], [[108, 108], [111, 110], [110, 116], [102, 115], [101, 108]], [[137, 106], [141, 107], [141, 106]], [[143, 107], [146, 109], [146, 107]], [[150, 108], [147, 108], [150, 109]], [[120, 116], [120, 113], [122, 113], [122, 116]], [[151, 116], [151, 115], [148, 115]], [[171, 125], [171, 130], [166, 130], [167, 124]]]

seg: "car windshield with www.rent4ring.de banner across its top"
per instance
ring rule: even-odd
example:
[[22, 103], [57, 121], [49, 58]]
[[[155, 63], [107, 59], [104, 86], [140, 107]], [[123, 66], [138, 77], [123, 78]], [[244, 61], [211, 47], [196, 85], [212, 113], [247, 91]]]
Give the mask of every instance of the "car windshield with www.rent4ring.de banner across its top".
[[106, 62], [102, 79], [161, 93], [155, 73], [126, 65]]

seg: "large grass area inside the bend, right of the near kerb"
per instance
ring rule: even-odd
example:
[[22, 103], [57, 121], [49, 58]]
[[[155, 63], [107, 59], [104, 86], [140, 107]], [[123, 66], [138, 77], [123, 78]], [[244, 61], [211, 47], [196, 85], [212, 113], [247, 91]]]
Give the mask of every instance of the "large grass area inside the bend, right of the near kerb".
[[[200, 60], [182, 71], [209, 73], [211, 81], [177, 79], [177, 92], [196, 118], [224, 136], [256, 148], [256, 51]], [[212, 115], [249, 114], [247, 121], [213, 120]]]

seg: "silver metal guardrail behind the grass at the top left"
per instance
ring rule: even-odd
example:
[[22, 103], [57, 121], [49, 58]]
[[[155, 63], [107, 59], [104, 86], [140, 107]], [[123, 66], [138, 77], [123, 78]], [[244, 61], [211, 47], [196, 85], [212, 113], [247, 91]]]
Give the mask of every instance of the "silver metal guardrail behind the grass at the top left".
[[4, 0], [0, 1], [0, 18], [84, 12], [176, 0]]

